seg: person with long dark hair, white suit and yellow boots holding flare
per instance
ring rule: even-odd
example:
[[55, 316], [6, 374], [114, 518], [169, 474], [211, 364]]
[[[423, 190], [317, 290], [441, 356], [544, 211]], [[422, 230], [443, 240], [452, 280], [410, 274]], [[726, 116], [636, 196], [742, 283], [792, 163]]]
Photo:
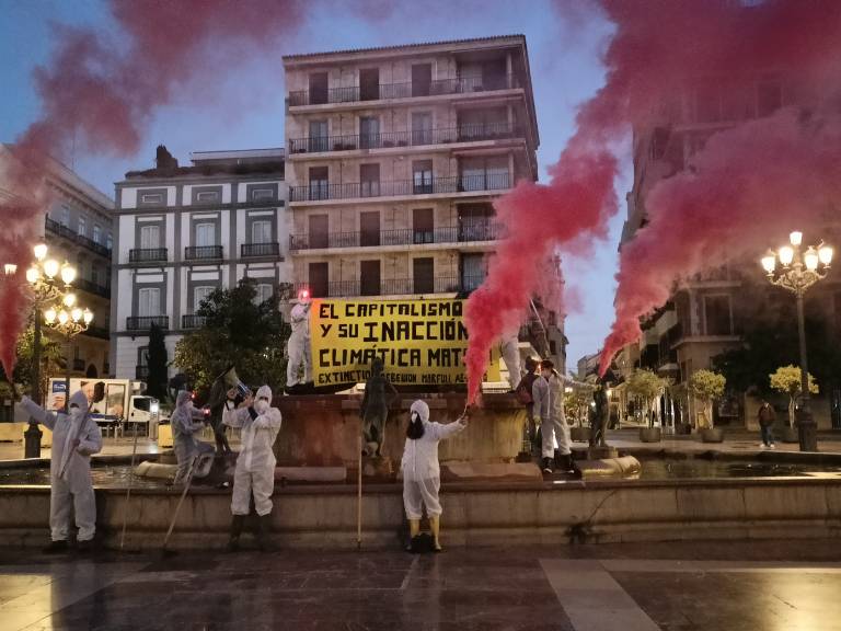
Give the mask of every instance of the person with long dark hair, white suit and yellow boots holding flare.
[[441, 503], [438, 491], [441, 472], [438, 464], [438, 443], [454, 436], [468, 426], [466, 415], [456, 423], [442, 425], [429, 422], [429, 406], [417, 400], [410, 409], [406, 428], [406, 445], [400, 468], [403, 473], [403, 506], [408, 519], [410, 543], [406, 550], [415, 551], [414, 541], [420, 532], [420, 517], [426, 507], [429, 526], [433, 529], [435, 551], [441, 551]]

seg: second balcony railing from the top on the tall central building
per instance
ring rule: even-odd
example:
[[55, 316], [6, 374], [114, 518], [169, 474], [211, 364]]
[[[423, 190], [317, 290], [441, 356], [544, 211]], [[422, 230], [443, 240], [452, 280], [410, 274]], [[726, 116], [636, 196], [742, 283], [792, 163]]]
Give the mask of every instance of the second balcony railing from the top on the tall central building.
[[480, 140], [504, 140], [523, 135], [519, 125], [507, 121], [499, 123], [465, 124], [443, 129], [412, 129], [407, 131], [380, 131], [377, 134], [348, 134], [342, 136], [313, 136], [289, 140], [290, 153], [316, 153], [324, 151], [353, 151], [354, 149], [391, 149], [426, 145], [450, 145]]

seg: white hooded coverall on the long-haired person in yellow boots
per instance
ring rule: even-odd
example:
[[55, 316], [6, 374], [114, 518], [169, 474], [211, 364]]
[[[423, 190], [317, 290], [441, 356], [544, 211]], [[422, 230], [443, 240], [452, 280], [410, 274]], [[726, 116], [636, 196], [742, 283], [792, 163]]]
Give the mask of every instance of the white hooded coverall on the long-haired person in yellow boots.
[[412, 403], [410, 414], [415, 412], [424, 423], [424, 435], [415, 439], [406, 437], [406, 446], [403, 448], [400, 464], [403, 471], [403, 506], [408, 519], [420, 519], [424, 506], [427, 516], [438, 517], [441, 514], [441, 503], [438, 501], [441, 486], [438, 443], [454, 436], [464, 429], [464, 425], [430, 423], [429, 406], [424, 401]]

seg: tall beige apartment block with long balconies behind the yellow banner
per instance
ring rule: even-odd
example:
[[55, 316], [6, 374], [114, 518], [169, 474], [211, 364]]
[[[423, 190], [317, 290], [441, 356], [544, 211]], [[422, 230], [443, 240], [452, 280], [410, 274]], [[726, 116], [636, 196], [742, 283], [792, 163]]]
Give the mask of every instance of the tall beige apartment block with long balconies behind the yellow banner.
[[[538, 179], [521, 35], [284, 57], [296, 280], [315, 297], [464, 295]], [[562, 323], [550, 344], [562, 353]]]

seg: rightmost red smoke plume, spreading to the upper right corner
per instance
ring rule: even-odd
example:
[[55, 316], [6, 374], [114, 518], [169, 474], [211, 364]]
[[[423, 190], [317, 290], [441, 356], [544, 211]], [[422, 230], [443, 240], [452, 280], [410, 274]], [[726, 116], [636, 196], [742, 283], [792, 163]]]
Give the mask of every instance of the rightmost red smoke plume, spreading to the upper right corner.
[[[609, 5], [618, 25], [611, 79], [625, 87], [629, 123], [643, 133], [658, 123], [679, 125], [691, 117], [692, 90], [701, 91], [699, 106], [721, 107], [726, 123], [711, 126], [689, 168], [661, 180], [645, 198], [647, 225], [622, 248], [602, 374], [622, 346], [638, 340], [640, 319], [666, 302], [676, 282], [741, 256], [758, 265], [791, 230], [808, 236], [838, 223], [841, 4], [654, 4], [657, 11]], [[757, 84], [767, 77], [780, 80], [788, 107], [746, 122], [763, 113], [757, 112]], [[683, 114], [672, 108], [658, 122], [657, 106], [679, 106], [681, 97]]]

